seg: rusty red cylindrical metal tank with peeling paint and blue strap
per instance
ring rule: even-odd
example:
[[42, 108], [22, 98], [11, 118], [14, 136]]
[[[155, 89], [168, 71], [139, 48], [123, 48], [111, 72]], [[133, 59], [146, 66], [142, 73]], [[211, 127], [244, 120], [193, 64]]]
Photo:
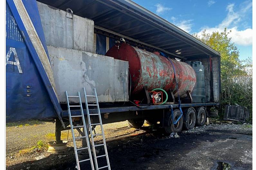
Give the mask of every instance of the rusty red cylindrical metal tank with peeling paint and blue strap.
[[[166, 57], [125, 43], [113, 46], [106, 55], [129, 62], [132, 94], [139, 93], [144, 86], [147, 86], [149, 91], [155, 88], [161, 88], [166, 91], [173, 89], [174, 96], [178, 96], [174, 70]], [[176, 71], [179, 95], [181, 98], [186, 97], [187, 90], [192, 91], [195, 86], [196, 76], [194, 69], [184, 62], [176, 60], [172, 60], [172, 62]]]

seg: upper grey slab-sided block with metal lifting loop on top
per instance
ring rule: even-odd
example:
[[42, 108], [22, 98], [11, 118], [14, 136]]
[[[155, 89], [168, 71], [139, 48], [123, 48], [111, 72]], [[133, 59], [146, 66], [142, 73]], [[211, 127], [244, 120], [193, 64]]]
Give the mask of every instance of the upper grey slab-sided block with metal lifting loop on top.
[[[47, 45], [93, 52], [94, 21], [37, 2]], [[68, 15], [67, 15], [68, 14]]]

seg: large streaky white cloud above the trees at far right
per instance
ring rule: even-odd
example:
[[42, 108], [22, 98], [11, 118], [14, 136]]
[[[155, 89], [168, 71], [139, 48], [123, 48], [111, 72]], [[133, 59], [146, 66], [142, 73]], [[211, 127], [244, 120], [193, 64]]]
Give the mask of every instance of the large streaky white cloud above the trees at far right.
[[226, 8], [228, 14], [226, 18], [217, 26], [209, 28], [204, 27], [198, 32], [198, 35], [201, 35], [202, 31], [205, 29], [206, 33], [212, 33], [214, 31], [222, 32], [224, 28], [227, 28], [227, 31], [231, 30], [229, 37], [231, 37], [232, 42], [236, 45], [249, 46], [252, 45], [252, 29], [247, 28], [245, 30], [239, 30], [238, 24], [242, 21], [245, 13], [248, 10], [251, 10], [252, 2], [245, 1], [238, 11], [234, 11], [234, 4], [229, 4]]

